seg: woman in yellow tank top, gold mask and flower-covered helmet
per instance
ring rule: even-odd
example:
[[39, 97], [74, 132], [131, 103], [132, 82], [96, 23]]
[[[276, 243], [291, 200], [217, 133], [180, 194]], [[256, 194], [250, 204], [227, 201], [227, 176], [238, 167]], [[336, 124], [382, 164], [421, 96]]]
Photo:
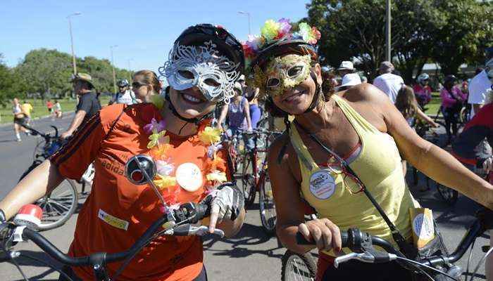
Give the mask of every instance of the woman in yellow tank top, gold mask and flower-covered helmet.
[[[287, 133], [271, 145], [268, 158], [277, 235], [292, 251], [320, 250], [317, 280], [411, 280], [397, 263], [351, 261], [339, 269], [331, 265], [333, 256], [348, 250], [341, 249], [340, 230], [349, 227], [396, 244], [382, 215], [361, 192], [363, 186], [407, 241], [411, 239], [409, 208], [417, 203], [406, 187], [399, 152], [435, 181], [489, 208], [493, 187], [420, 138], [389, 98], [371, 84], [323, 93], [313, 46], [320, 32], [303, 23], [299, 28], [292, 32], [287, 20], [270, 20], [261, 37], [244, 44], [246, 60], [251, 61], [251, 83], [267, 95], [266, 107], [273, 115], [294, 115]], [[363, 184], [358, 185], [349, 170]], [[319, 219], [304, 222], [304, 202], [316, 209]], [[316, 245], [297, 244], [297, 232]]]

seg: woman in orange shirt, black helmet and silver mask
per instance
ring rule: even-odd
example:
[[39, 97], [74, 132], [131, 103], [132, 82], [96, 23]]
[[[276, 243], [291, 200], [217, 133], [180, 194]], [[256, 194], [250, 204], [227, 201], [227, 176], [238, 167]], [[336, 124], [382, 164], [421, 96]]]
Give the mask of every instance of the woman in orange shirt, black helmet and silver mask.
[[[244, 198], [228, 181], [227, 152], [211, 112], [232, 98], [244, 69], [242, 45], [223, 27], [188, 27], [176, 39], [159, 72], [170, 85], [153, 103], [104, 107], [75, 136], [43, 162], [0, 202], [6, 218], [52, 190], [62, 178], [80, 178], [94, 162], [91, 193], [80, 210], [70, 256], [125, 251], [161, 217], [163, 205], [148, 184], [125, 177], [125, 163], [139, 154], [156, 163], [154, 184], [170, 209], [211, 199], [208, 223], [227, 236], [239, 231]], [[1, 213], [1, 212], [0, 212]], [[205, 222], [204, 222], [205, 223]], [[108, 263], [113, 275], [119, 264]], [[65, 268], [69, 275], [94, 280], [92, 268]], [[118, 280], [206, 280], [201, 238], [161, 236], [130, 261]], [[63, 280], [63, 278], [61, 278]]]

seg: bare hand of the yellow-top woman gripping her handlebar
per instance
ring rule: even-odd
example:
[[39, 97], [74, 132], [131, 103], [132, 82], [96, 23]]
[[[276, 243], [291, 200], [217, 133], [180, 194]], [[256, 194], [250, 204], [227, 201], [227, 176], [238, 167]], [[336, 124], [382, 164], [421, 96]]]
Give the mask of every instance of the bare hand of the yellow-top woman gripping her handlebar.
[[316, 244], [319, 250], [329, 251], [342, 249], [341, 232], [339, 228], [327, 218], [314, 219], [300, 223], [298, 231], [306, 240]]

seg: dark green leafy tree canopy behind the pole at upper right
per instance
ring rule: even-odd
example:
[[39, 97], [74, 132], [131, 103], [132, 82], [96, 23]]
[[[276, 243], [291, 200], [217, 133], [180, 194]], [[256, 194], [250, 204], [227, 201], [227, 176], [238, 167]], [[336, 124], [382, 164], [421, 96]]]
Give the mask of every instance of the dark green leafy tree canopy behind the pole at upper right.
[[[456, 73], [461, 63], [478, 61], [491, 43], [492, 4], [475, 0], [392, 1], [393, 63], [406, 83], [428, 60]], [[312, 0], [307, 21], [322, 33], [322, 63], [356, 58], [358, 68], [377, 75], [385, 53], [385, 0]]]

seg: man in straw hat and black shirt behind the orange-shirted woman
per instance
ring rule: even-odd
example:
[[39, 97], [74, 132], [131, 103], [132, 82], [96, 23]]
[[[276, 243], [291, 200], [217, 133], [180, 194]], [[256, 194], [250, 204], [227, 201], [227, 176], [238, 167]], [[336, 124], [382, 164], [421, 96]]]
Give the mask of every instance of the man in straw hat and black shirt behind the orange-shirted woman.
[[101, 104], [94, 93], [94, 84], [92, 77], [86, 73], [79, 73], [72, 78], [74, 91], [79, 96], [79, 103], [75, 110], [75, 117], [68, 126], [67, 131], [60, 135], [61, 138], [68, 138], [79, 129], [80, 126], [86, 124], [89, 119], [101, 110]]

